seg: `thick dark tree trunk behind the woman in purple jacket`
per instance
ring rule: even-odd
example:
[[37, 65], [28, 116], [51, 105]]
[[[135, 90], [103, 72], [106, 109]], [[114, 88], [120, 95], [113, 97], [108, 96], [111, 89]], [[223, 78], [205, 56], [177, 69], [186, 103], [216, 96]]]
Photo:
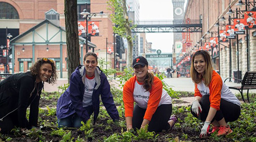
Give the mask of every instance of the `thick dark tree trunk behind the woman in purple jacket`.
[[65, 0], [65, 26], [68, 54], [68, 81], [72, 72], [80, 64], [78, 38], [77, 0]]

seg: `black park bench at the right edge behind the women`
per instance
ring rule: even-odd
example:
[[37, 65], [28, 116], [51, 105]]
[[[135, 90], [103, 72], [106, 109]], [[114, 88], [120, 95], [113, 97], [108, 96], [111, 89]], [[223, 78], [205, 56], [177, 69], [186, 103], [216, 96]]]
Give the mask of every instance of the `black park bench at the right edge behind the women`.
[[[233, 77], [228, 77], [225, 79], [225, 81], [228, 80], [229, 78], [233, 78]], [[242, 99], [244, 102], [245, 102], [245, 99], [243, 96], [243, 90], [247, 90], [247, 100], [248, 100], [248, 102], [250, 102], [249, 90], [256, 89], [256, 71], [247, 71], [242, 80], [238, 80], [237, 78], [233, 78], [233, 79], [240, 82], [241, 86], [234, 86], [234, 87], [229, 87], [229, 88], [238, 90], [241, 93], [241, 96], [242, 96]], [[224, 81], [224, 83], [225, 83], [225, 81]]]

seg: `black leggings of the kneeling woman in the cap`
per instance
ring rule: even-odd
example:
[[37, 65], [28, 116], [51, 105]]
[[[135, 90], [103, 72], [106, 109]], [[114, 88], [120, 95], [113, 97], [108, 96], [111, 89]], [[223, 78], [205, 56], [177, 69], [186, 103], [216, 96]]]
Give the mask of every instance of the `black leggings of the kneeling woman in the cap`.
[[[133, 109], [132, 128], [141, 128], [141, 124], [145, 115], [146, 109], [141, 108], [139, 105], [135, 105]], [[157, 107], [156, 112], [152, 116], [151, 121], [148, 124], [149, 132], [161, 132], [162, 130], [169, 130], [170, 124], [168, 120], [172, 114], [172, 104], [162, 104]]]

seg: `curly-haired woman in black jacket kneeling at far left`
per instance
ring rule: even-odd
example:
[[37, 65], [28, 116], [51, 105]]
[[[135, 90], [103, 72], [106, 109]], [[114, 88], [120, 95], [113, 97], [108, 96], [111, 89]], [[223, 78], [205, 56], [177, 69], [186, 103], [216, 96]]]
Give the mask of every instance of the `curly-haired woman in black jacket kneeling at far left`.
[[[0, 133], [14, 127], [24, 132], [37, 127], [38, 108], [44, 82], [56, 82], [56, 67], [51, 59], [41, 58], [25, 73], [17, 73], [0, 82]], [[29, 121], [26, 109], [30, 105]]]

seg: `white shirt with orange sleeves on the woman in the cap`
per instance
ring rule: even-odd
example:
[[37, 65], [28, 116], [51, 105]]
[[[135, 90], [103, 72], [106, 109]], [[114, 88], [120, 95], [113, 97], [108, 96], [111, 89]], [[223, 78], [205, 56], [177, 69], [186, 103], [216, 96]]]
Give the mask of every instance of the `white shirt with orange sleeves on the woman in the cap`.
[[131, 77], [124, 85], [123, 100], [125, 105], [125, 117], [133, 116], [134, 102], [146, 109], [144, 119], [151, 120], [156, 109], [161, 104], [172, 104], [172, 98], [162, 88], [162, 81], [154, 77], [152, 89], [146, 91], [143, 83], [139, 83], [136, 76]]

